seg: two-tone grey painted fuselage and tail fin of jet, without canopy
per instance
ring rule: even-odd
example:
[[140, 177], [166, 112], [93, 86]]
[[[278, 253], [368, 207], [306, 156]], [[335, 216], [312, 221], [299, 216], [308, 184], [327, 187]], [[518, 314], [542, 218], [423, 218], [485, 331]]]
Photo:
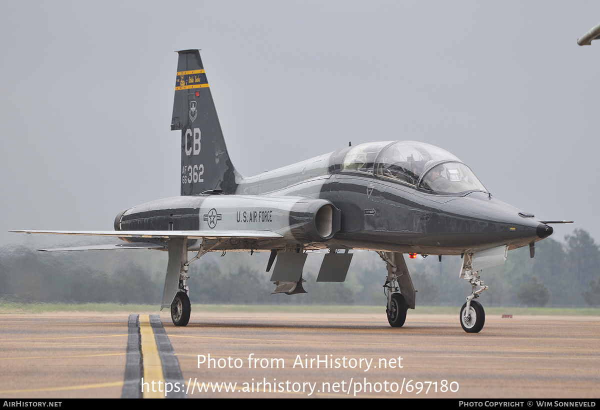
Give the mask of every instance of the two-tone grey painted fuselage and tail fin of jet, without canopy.
[[[182, 130], [182, 196], [125, 210], [117, 216], [117, 230], [232, 231], [231, 238], [205, 241], [214, 251], [296, 247], [436, 255], [500, 245], [514, 249], [552, 233], [488, 192], [440, 195], [373, 173], [342, 170], [349, 147], [242, 177], [229, 159], [197, 50], [179, 52], [171, 128]], [[316, 212], [325, 205], [335, 207], [328, 237], [314, 232]], [[284, 238], [241, 240], [235, 238], [240, 230], [275, 231]], [[188, 249], [199, 244], [190, 240]]]

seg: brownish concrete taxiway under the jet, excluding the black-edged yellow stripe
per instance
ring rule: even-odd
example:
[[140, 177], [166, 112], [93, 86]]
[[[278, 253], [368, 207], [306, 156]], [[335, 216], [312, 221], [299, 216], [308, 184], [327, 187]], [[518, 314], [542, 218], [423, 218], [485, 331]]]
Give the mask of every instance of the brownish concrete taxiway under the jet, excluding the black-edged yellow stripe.
[[[199, 311], [185, 328], [160, 316], [191, 398], [598, 397], [600, 317], [488, 316], [466, 334], [458, 313], [390, 328], [383, 314]], [[122, 397], [128, 320], [1, 315], [0, 397]]]

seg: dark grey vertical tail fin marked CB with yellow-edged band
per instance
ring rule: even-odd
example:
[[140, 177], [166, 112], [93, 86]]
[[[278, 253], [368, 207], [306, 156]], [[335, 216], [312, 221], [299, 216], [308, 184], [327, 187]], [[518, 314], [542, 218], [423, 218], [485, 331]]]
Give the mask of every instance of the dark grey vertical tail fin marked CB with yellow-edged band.
[[235, 170], [199, 50], [178, 54], [171, 130], [181, 130], [181, 195], [211, 190], [233, 194]]

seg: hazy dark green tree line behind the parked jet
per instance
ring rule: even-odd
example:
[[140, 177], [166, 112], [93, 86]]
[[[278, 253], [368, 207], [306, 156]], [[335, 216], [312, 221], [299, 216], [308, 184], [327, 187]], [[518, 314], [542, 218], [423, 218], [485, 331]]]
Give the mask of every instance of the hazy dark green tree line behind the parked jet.
[[[91, 241], [90, 241], [91, 242]], [[89, 244], [89, 242], [88, 242]], [[74, 245], [71, 243], [71, 245]], [[190, 299], [214, 304], [385, 304], [385, 263], [375, 252], [355, 252], [345, 283], [316, 283], [322, 256], [309, 255], [301, 295], [270, 295], [268, 254], [204, 255], [190, 265]], [[460, 280], [460, 257], [407, 259], [418, 305], [457, 305], [470, 294]], [[0, 248], [0, 299], [21, 303], [160, 304], [167, 254], [160, 251], [38, 252], [26, 245]], [[584, 230], [561, 243], [536, 243], [508, 252], [504, 266], [482, 272], [488, 306], [600, 305], [600, 248]]]

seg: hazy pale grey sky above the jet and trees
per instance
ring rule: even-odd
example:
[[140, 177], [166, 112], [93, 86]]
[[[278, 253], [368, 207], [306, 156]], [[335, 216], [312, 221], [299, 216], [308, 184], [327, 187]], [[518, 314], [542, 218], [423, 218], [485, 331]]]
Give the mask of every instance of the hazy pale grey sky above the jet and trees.
[[[0, 243], [179, 195], [177, 55], [200, 48], [245, 176], [411, 139], [600, 242], [598, 1], [0, 1]], [[44, 243], [47, 237], [38, 237]], [[68, 243], [70, 238], [62, 238]]]

